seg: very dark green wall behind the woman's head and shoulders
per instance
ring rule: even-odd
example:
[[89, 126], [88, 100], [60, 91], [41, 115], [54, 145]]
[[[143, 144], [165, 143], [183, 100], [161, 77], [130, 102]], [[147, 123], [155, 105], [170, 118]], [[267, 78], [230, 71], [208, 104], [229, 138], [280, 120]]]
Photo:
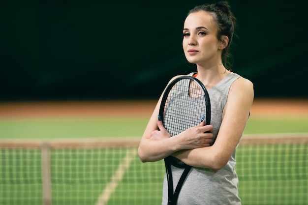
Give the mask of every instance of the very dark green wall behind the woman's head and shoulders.
[[[195, 71], [182, 50], [205, 0], [0, 1], [0, 100], [158, 98]], [[231, 0], [233, 70], [255, 97], [308, 98], [307, 3]]]

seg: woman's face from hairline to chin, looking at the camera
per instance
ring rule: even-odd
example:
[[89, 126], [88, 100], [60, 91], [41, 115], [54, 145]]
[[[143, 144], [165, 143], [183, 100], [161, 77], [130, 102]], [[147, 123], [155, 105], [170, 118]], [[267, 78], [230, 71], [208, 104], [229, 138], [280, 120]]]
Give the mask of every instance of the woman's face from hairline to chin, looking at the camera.
[[187, 16], [183, 29], [183, 50], [190, 63], [215, 63], [221, 60], [221, 41], [211, 14], [198, 11]]

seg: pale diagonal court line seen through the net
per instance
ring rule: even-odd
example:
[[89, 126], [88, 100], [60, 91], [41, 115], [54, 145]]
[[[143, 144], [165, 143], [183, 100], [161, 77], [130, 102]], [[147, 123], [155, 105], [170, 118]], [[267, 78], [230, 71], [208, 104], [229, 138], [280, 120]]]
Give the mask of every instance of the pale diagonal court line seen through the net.
[[131, 161], [135, 158], [136, 154], [136, 148], [127, 149], [126, 155], [123, 158], [122, 163], [119, 165], [119, 168], [117, 169], [114, 176], [112, 176], [110, 182], [107, 184], [102, 194], [98, 197], [98, 200], [95, 205], [105, 205], [108, 202], [111, 194], [114, 192], [119, 182], [122, 180], [127, 168], [129, 167]]

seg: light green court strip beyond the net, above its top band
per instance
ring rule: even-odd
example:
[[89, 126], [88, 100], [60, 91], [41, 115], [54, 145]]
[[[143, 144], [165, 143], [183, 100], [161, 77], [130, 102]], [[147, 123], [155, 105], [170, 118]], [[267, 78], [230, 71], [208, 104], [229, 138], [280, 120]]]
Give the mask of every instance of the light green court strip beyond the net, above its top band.
[[[148, 118], [0, 119], [0, 139], [141, 137]], [[250, 118], [245, 134], [306, 133], [308, 117]]]

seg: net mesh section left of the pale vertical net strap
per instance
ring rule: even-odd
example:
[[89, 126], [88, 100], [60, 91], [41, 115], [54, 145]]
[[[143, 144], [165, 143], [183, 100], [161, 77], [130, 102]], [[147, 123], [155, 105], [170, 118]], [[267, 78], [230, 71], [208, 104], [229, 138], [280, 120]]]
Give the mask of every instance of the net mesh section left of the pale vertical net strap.
[[42, 204], [40, 150], [0, 149], [0, 204]]

